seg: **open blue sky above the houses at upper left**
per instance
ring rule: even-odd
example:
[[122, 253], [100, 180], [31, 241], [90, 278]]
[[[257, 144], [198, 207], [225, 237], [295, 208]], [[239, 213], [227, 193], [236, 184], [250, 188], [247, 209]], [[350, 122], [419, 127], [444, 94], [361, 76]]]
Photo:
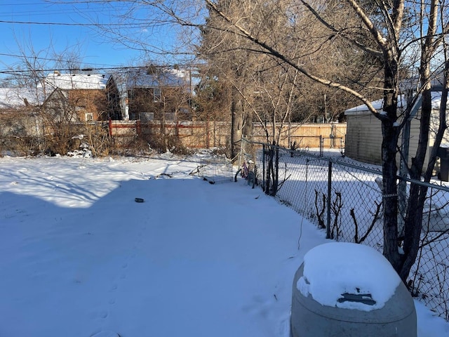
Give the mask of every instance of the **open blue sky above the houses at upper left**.
[[[45, 0], [0, 0], [0, 71], [20, 64], [22, 58], [18, 56], [23, 53], [37, 54], [42, 61], [53, 59], [55, 55], [62, 55], [62, 58], [76, 55], [83, 67], [136, 65], [160, 57], [156, 54], [145, 56], [142, 51], [107, 39], [92, 25], [93, 22], [106, 25], [117, 22], [116, 14], [128, 9], [127, 1], [109, 4], [106, 1], [104, 4], [71, 2], [61, 1], [57, 4], [53, 1], [52, 4]], [[133, 12], [133, 17], [151, 20], [154, 13], [149, 11], [148, 7], [142, 7]], [[169, 46], [174, 39], [168, 27], [109, 27], [114, 32], [126, 27], [128, 30], [123, 32], [126, 37], [143, 39], [154, 46], [149, 47], [154, 50]]]

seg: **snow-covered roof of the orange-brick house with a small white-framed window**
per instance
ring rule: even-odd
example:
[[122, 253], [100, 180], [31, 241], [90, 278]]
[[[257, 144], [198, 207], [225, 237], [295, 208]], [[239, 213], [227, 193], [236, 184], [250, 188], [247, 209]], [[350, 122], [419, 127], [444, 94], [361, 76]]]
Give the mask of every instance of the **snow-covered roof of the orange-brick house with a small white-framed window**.
[[62, 90], [102, 90], [106, 88], [107, 79], [109, 79], [109, 76], [103, 74], [60, 74], [55, 72], [47, 75], [45, 83], [47, 86]]

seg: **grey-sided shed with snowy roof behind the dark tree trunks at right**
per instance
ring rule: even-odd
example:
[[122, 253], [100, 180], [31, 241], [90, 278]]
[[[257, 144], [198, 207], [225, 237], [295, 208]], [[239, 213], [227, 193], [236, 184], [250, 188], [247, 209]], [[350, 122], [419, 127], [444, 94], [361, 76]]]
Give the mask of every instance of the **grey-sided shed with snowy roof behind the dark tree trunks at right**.
[[[371, 104], [377, 112], [382, 111], [383, 100], [376, 100]], [[429, 150], [426, 154], [424, 165], [427, 165], [431, 147], [434, 145], [436, 131], [438, 129], [438, 114], [441, 103], [441, 91], [432, 92], [432, 115], [431, 131], [429, 134]], [[405, 96], [398, 98], [398, 109], [403, 111], [407, 107]], [[366, 105], [358, 105], [344, 112], [347, 117], [347, 135], [345, 144], [345, 154], [347, 157], [369, 164], [382, 164], [382, 125], [368, 110]], [[420, 109], [410, 117], [410, 143], [408, 152], [408, 164], [411, 164], [412, 157], [415, 156], [419, 134], [420, 134]], [[399, 137], [401, 146], [402, 134]], [[449, 133], [446, 131], [441, 144], [449, 144]], [[399, 161], [400, 156], [397, 155]]]

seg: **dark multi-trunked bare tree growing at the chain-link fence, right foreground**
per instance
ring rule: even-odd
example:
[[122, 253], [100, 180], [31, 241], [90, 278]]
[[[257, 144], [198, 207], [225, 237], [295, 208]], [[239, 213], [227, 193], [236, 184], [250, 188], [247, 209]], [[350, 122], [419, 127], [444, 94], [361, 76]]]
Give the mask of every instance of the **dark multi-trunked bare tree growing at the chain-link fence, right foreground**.
[[[241, 34], [249, 41], [252, 41], [255, 45], [262, 48], [275, 58], [286, 62], [290, 67], [295, 68], [305, 76], [314, 81], [317, 81], [323, 85], [340, 88], [365, 103], [368, 109], [374, 114], [375, 117], [382, 122], [382, 176], [383, 176], [383, 192], [384, 192], [384, 255], [387, 256], [391, 264], [398, 271], [401, 278], [406, 281], [410, 267], [415, 261], [417, 249], [419, 246], [420, 232], [421, 232], [421, 220], [422, 220], [422, 207], [425, 200], [426, 189], [422, 187], [415, 187], [420, 192], [411, 192], [409, 197], [409, 207], [406, 216], [406, 234], [403, 238], [403, 242], [398, 237], [398, 199], [397, 199], [397, 186], [396, 186], [396, 152], [398, 146], [398, 137], [401, 131], [401, 127], [405, 124], [404, 116], [398, 114], [398, 95], [400, 94], [399, 84], [401, 79], [401, 64], [403, 61], [403, 54], [407, 48], [412, 46], [413, 41], [410, 41], [410, 28], [416, 27], [410, 25], [406, 27], [404, 22], [406, 21], [406, 13], [414, 8], [415, 3], [409, 3], [407, 1], [394, 1], [391, 4], [387, 2], [370, 4], [368, 8], [373, 7], [377, 9], [376, 16], [371, 17], [370, 13], [365, 11], [365, 7], [358, 1], [347, 0], [346, 6], [343, 7], [343, 13], [357, 18], [360, 22], [360, 27], [366, 30], [370, 34], [371, 40], [374, 44], [361, 44], [361, 41], [357, 39], [355, 33], [360, 30], [356, 27], [356, 32], [351, 27], [337, 27], [334, 22], [326, 18], [326, 13], [316, 6], [311, 6], [307, 1], [301, 1], [307, 11], [313, 13], [313, 15], [322, 22], [333, 34], [339, 34], [342, 39], [350, 41], [351, 44], [357, 46], [361, 53], [368, 53], [368, 55], [374, 55], [382, 60], [384, 68], [384, 83], [381, 88], [384, 99], [384, 106], [382, 112], [377, 112], [373, 105], [370, 104], [366, 95], [363, 95], [360, 91], [354, 89], [349, 84], [342, 84], [338, 81], [333, 81], [325, 76], [317, 76], [316, 72], [312, 72], [304, 65], [298, 65], [293, 59], [289, 58], [285, 53], [281, 53], [276, 46], [270, 44], [269, 41], [257, 37], [253, 32], [250, 32], [246, 27], [235, 21], [234, 18], [230, 18], [226, 13], [220, 11], [215, 3], [210, 0], [206, 0], [208, 6], [214, 8], [214, 10], [221, 15], [223, 20], [232, 24], [236, 29], [236, 34]], [[332, 6], [333, 1], [321, 4], [322, 6]], [[406, 7], [407, 5], [407, 7]], [[337, 7], [334, 7], [337, 10]], [[351, 11], [348, 11], [351, 9]], [[420, 81], [423, 99], [422, 99], [422, 120], [420, 128], [420, 147], [418, 147], [417, 154], [415, 156], [414, 164], [411, 168], [412, 175], [415, 178], [420, 176], [422, 172], [422, 164], [427, 152], [427, 144], [429, 139], [429, 117], [431, 113], [431, 106], [429, 105], [430, 98], [430, 66], [431, 60], [436, 52], [436, 47], [441, 44], [441, 39], [444, 34], [447, 33], [447, 23], [441, 22], [438, 29], [438, 13], [441, 18], [447, 18], [443, 15], [445, 6], [441, 6], [438, 1], [431, 1], [429, 6], [426, 4], [420, 4], [420, 18], [418, 22], [423, 27], [427, 27], [427, 32], [422, 32], [422, 35], [418, 38], [420, 41], [421, 52], [420, 55]], [[429, 18], [429, 21], [426, 21]], [[374, 46], [373, 46], [374, 45]], [[374, 48], [373, 48], [374, 47]], [[409, 113], [409, 112], [408, 112]], [[408, 117], [406, 113], [406, 118]], [[445, 126], [443, 126], [444, 128]], [[440, 135], [442, 136], [442, 135]], [[438, 145], [438, 143], [436, 143]], [[436, 151], [434, 147], [434, 152]], [[435, 155], [436, 153], [434, 153]], [[427, 173], [433, 168], [430, 164]], [[429, 174], [424, 176], [429, 180]], [[399, 251], [398, 245], [402, 246], [403, 253]]]

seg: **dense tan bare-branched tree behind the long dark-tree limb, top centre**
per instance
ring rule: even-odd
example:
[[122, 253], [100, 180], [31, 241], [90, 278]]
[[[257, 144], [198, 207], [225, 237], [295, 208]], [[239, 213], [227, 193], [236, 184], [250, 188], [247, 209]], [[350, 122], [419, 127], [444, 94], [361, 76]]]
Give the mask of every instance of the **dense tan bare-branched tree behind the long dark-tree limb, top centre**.
[[[318, 86], [280, 62], [262, 46], [242, 37], [233, 22], [245, 27], [255, 39], [270, 41], [296, 65], [307, 64], [314, 74], [350, 81], [358, 91], [373, 95], [367, 84], [379, 81], [381, 63], [377, 56], [366, 58], [354, 53], [354, 46], [335, 39], [314, 15], [304, 15], [292, 1], [220, 0], [208, 8], [209, 16], [201, 27], [199, 55], [211, 65], [214, 79], [234, 86], [239, 100], [243, 99], [247, 128], [249, 121], [259, 121], [267, 143], [279, 143], [288, 121], [304, 122], [316, 116], [322, 121], [336, 120], [355, 100], [335, 88]], [[326, 13], [335, 21], [341, 17], [333, 8], [326, 8]], [[366, 40], [366, 36], [361, 38]], [[230, 69], [235, 71], [227, 71]], [[332, 100], [337, 104], [328, 104]]]

